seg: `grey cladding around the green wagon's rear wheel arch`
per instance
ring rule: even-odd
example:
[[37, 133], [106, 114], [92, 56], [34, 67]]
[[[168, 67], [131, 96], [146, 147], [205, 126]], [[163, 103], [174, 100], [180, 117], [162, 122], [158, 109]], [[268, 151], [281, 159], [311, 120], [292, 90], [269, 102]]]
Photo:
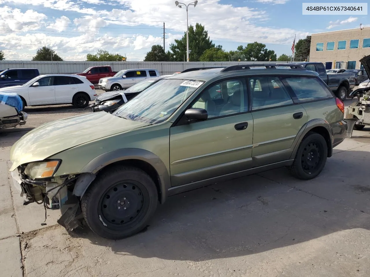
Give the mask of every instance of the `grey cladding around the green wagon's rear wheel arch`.
[[290, 158], [294, 159], [298, 150], [300, 143], [308, 132], [315, 132], [324, 137], [327, 144], [327, 157], [333, 155], [333, 141], [332, 141], [332, 131], [330, 129], [329, 123], [323, 119], [313, 119], [306, 123], [300, 131], [299, 139], [294, 147], [293, 153]]

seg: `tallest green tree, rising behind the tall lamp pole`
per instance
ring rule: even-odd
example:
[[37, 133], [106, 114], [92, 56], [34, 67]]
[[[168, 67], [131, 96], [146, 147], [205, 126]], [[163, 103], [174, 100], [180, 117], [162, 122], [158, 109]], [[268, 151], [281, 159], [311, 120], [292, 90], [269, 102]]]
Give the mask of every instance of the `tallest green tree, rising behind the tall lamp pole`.
[[[201, 55], [206, 49], [215, 47], [208, 36], [208, 32], [204, 26], [196, 23], [194, 26], [189, 26], [189, 60], [192, 62], [199, 62]], [[172, 61], [181, 62], [184, 61], [184, 55], [186, 57], [186, 32], [181, 40], [175, 40], [175, 43], [171, 43], [169, 46], [172, 52]], [[186, 59], [186, 58], [185, 58]]]

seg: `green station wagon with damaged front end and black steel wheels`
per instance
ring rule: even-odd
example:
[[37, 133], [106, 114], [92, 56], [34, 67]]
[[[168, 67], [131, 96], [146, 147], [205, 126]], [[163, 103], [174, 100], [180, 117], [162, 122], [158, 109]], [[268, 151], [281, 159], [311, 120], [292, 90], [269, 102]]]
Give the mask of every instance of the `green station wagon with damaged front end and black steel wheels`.
[[300, 65], [187, 69], [112, 114], [33, 129], [11, 148], [10, 171], [24, 204], [61, 209], [67, 230], [85, 220], [98, 235], [121, 239], [180, 192], [279, 167], [316, 177], [346, 137], [343, 112], [317, 73]]

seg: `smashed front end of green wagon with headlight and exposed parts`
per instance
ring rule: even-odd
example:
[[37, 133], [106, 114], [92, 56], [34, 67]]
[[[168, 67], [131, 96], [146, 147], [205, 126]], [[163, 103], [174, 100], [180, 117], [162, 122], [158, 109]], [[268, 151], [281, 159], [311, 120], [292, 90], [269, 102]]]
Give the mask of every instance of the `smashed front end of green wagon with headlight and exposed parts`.
[[[53, 175], [60, 161], [45, 161], [40, 163], [30, 163], [21, 165], [11, 172], [14, 187], [20, 192], [20, 196], [25, 200], [23, 205], [30, 203], [43, 204], [45, 209], [45, 220], [48, 209], [60, 209], [62, 216], [57, 222], [67, 230], [73, 230], [83, 226], [83, 215], [81, 212], [80, 197], [74, 194], [77, 189], [76, 183], [86, 184], [86, 187], [94, 179], [92, 174], [86, 178], [86, 174], [68, 174], [63, 176], [44, 177], [43, 175]], [[33, 168], [30, 168], [31, 167]], [[35, 169], [35, 167], [38, 167]], [[40, 168], [44, 167], [41, 172]], [[41, 178], [31, 178], [36, 175]], [[95, 175], [92, 175], [95, 177]], [[88, 180], [88, 183], [86, 182]], [[81, 190], [81, 188], [80, 188]], [[83, 191], [77, 191], [80, 196]], [[44, 220], [44, 222], [45, 222]], [[41, 223], [44, 225], [45, 223]]]

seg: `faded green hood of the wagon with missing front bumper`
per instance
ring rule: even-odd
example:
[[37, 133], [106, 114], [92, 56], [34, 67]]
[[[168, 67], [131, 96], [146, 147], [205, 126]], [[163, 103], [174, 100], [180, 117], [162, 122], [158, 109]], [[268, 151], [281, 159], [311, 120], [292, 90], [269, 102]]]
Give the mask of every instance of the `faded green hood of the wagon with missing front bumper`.
[[28, 132], [11, 147], [10, 160], [13, 165], [10, 171], [21, 164], [45, 160], [80, 144], [148, 125], [107, 112], [48, 122]]

